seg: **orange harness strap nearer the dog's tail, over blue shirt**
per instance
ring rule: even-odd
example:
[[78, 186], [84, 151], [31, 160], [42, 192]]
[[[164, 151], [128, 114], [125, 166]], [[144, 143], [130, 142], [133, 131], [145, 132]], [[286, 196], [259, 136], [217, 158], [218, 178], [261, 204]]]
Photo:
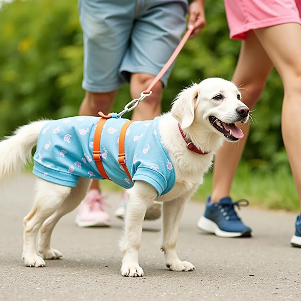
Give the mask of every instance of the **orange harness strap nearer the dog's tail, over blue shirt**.
[[110, 180], [110, 178], [107, 176], [104, 166], [102, 165], [101, 162], [101, 151], [100, 151], [100, 138], [101, 138], [101, 132], [104, 127], [104, 123], [106, 122], [107, 119], [111, 118], [111, 115], [104, 115], [104, 113], [99, 112], [98, 113], [101, 118], [98, 120], [96, 129], [95, 129], [95, 134], [94, 134], [94, 142], [93, 142], [93, 160], [96, 163], [96, 166], [98, 168], [99, 173], [104, 179]]

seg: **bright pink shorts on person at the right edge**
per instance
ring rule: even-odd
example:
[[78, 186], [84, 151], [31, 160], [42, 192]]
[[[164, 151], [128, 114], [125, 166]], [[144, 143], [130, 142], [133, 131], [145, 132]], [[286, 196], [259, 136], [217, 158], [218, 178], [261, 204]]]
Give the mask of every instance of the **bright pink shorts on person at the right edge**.
[[244, 40], [252, 29], [301, 24], [301, 0], [224, 0], [230, 38]]

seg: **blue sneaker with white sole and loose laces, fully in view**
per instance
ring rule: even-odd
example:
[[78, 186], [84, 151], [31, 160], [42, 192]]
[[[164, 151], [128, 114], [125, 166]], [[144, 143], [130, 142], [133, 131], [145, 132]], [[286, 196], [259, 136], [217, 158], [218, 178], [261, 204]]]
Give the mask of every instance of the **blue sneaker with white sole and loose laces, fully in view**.
[[244, 225], [234, 209], [235, 206], [240, 209], [240, 206], [248, 205], [247, 200], [232, 202], [230, 197], [223, 197], [218, 203], [210, 203], [209, 196], [205, 214], [197, 222], [197, 228], [219, 237], [250, 237], [252, 236], [251, 228]]

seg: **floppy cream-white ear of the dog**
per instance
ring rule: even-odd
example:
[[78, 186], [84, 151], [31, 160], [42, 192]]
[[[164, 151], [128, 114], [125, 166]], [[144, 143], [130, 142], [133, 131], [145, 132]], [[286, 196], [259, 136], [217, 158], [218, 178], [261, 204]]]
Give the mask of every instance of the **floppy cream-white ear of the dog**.
[[182, 129], [187, 129], [193, 123], [197, 96], [196, 85], [193, 85], [180, 92], [173, 102], [171, 114], [178, 120]]

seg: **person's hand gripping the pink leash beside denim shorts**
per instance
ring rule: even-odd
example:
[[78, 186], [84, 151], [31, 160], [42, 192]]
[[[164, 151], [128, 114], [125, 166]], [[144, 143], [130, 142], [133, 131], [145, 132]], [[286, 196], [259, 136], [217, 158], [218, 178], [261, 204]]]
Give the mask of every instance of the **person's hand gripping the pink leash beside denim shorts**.
[[194, 38], [206, 25], [204, 3], [205, 0], [194, 0], [189, 5], [188, 27], [189, 25], [194, 26], [194, 30], [189, 38]]

